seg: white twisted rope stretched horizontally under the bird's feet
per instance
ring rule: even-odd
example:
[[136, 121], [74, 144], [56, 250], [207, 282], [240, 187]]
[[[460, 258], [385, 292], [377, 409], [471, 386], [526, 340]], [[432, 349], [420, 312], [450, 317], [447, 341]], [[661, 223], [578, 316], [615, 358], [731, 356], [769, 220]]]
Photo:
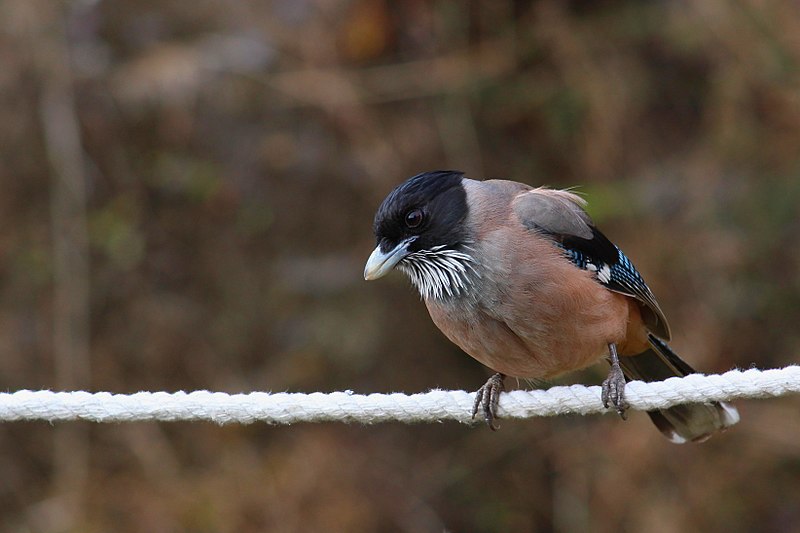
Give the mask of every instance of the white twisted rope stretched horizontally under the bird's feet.
[[[663, 409], [680, 403], [768, 398], [800, 392], [800, 366], [775, 370], [731, 370], [721, 375], [693, 374], [625, 389], [632, 409]], [[422, 394], [347, 392], [311, 394], [227, 394], [223, 392], [139, 392], [111, 394], [21, 390], [0, 393], [0, 421], [90, 420], [136, 422], [204, 420], [217, 424], [267, 422], [470, 422], [474, 393], [432, 390]], [[607, 411], [600, 387], [572, 385], [548, 390], [512, 391], [500, 396], [502, 418], [530, 418]]]

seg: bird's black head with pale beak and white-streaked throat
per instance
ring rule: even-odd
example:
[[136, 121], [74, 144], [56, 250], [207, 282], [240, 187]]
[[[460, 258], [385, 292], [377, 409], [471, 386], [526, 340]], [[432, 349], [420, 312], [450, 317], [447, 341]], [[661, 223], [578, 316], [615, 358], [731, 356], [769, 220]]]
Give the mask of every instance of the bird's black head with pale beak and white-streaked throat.
[[477, 275], [465, 226], [468, 213], [464, 175], [425, 172], [396, 187], [375, 214], [377, 246], [364, 279], [378, 279], [397, 267], [423, 298], [460, 295]]

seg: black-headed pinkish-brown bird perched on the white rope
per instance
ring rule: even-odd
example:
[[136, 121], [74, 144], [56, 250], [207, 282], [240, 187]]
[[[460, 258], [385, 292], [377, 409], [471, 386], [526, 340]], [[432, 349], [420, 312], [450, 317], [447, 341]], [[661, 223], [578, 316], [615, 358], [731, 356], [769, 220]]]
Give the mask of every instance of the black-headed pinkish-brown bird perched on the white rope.
[[[695, 373], [667, 344], [653, 292], [586, 204], [571, 190], [436, 170], [395, 187], [375, 214], [364, 278], [403, 272], [442, 333], [495, 372], [472, 409], [493, 430], [506, 376], [548, 380], [607, 359], [601, 401], [624, 419], [627, 381]], [[648, 415], [675, 443], [739, 421], [725, 402]]]

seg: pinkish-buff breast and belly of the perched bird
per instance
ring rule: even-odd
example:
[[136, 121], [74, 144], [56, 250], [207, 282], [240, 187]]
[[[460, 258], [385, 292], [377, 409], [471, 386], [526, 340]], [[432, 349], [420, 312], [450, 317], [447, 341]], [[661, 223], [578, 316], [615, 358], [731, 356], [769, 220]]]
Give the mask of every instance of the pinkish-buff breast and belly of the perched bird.
[[513, 234], [487, 237], [477, 254], [480, 283], [468, 297], [425, 301], [436, 326], [462, 350], [508, 376], [547, 378], [593, 364], [611, 342], [626, 343], [627, 297], [551, 243], [520, 247]]

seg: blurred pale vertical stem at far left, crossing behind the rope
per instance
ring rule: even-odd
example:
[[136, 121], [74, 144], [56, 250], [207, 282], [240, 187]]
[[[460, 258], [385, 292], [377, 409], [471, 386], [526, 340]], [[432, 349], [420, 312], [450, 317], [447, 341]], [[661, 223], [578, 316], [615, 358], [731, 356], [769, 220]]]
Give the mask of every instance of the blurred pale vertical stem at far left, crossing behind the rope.
[[[89, 265], [85, 164], [75, 109], [69, 43], [62, 4], [31, 35], [41, 83], [39, 118], [51, 169], [53, 254], [53, 359], [58, 388], [89, 384]], [[88, 473], [87, 428], [60, 427], [55, 434], [53, 490], [59, 515], [71, 529], [81, 522]]]

